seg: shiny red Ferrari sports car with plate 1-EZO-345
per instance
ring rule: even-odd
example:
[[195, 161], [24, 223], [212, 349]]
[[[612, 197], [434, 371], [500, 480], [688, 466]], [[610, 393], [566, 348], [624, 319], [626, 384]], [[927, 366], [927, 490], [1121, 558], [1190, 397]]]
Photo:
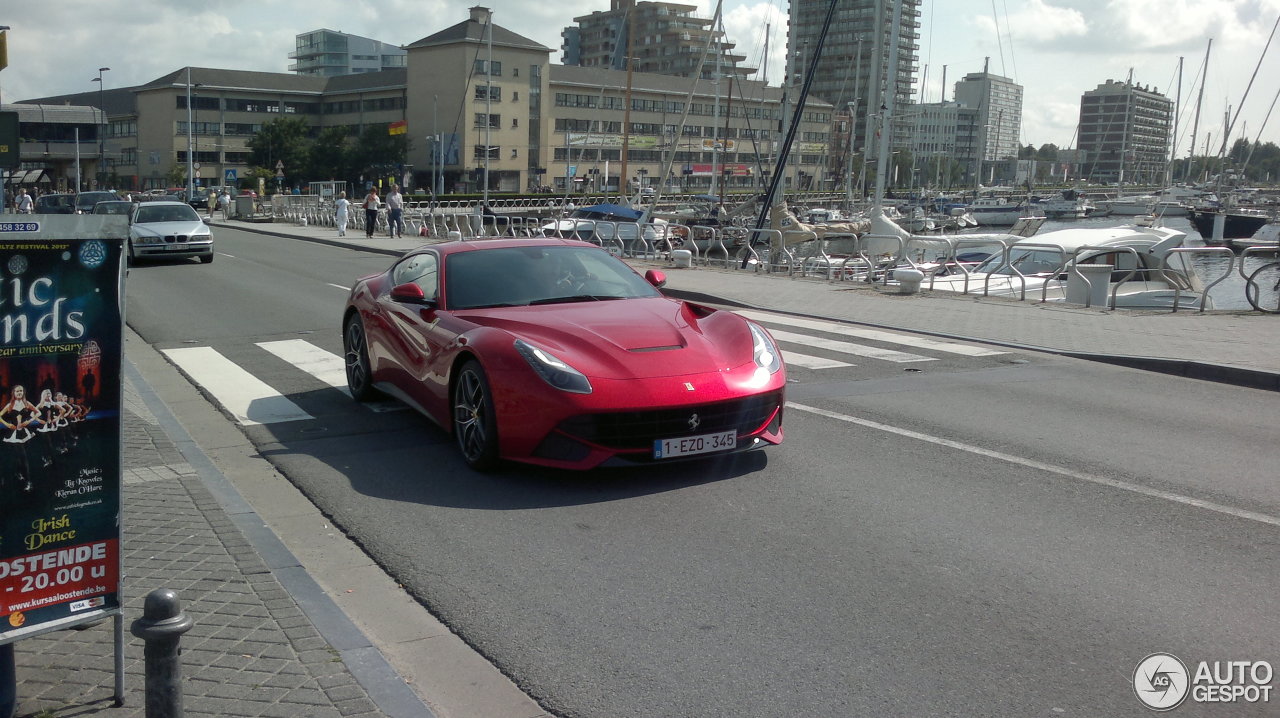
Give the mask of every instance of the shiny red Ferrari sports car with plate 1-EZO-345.
[[786, 370], [733, 312], [664, 297], [573, 239], [420, 247], [356, 282], [343, 312], [351, 395], [396, 397], [463, 461], [654, 465], [782, 442]]

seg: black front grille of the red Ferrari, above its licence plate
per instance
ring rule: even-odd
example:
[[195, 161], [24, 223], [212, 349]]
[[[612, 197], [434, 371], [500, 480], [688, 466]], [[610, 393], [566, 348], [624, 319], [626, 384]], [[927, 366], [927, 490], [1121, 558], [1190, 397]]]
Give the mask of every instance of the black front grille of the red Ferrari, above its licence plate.
[[[584, 413], [566, 419], [556, 429], [570, 436], [612, 449], [643, 449], [655, 439], [736, 430], [750, 434], [773, 416], [782, 393], [773, 392], [746, 399], [655, 411]], [[692, 421], [698, 416], [696, 422]]]

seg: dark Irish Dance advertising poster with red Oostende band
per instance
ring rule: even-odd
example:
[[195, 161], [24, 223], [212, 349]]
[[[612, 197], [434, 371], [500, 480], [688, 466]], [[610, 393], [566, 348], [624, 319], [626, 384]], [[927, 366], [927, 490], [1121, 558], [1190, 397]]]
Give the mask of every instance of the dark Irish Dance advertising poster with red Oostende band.
[[120, 608], [123, 241], [50, 219], [0, 221], [0, 644]]

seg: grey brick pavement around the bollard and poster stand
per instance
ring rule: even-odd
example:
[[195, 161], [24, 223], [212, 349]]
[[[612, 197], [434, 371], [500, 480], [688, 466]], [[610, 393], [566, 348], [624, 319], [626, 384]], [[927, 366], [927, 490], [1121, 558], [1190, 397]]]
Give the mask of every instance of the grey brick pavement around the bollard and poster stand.
[[145, 714], [146, 593], [177, 591], [189, 717], [383, 715], [183, 461], [132, 381], [124, 390], [125, 705], [114, 705], [113, 621], [19, 641], [18, 717]]

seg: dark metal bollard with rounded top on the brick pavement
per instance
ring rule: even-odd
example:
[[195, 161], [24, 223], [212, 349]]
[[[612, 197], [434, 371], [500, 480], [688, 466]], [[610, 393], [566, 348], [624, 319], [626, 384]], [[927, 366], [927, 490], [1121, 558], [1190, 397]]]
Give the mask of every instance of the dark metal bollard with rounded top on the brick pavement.
[[196, 622], [182, 612], [178, 594], [156, 589], [147, 594], [142, 618], [129, 632], [146, 641], [146, 718], [182, 718], [182, 662], [178, 640]]

